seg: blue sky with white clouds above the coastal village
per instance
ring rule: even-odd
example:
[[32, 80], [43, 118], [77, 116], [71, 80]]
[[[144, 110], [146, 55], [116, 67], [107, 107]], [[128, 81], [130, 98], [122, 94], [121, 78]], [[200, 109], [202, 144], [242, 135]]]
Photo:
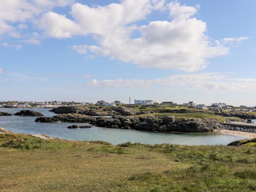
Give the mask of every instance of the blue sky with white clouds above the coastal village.
[[255, 106], [255, 0], [8, 0], [0, 101]]

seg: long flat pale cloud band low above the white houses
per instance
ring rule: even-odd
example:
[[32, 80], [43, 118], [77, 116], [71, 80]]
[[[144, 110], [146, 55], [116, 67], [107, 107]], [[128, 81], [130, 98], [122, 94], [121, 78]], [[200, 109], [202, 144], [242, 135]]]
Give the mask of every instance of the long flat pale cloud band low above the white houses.
[[256, 79], [231, 78], [222, 73], [200, 73], [170, 75], [163, 79], [116, 79], [116, 80], [91, 80], [87, 86], [92, 87], [129, 87], [136, 88], [176, 88], [197, 90], [228, 90], [228, 91], [256, 91]]

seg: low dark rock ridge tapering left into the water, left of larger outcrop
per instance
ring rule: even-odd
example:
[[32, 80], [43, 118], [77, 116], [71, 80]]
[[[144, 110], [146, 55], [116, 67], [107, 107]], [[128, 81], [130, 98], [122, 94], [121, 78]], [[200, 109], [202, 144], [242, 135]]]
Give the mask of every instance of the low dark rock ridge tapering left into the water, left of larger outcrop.
[[38, 117], [35, 122], [54, 123], [54, 122], [68, 122], [68, 123], [91, 123], [95, 122], [96, 118], [84, 114], [59, 114], [53, 117]]

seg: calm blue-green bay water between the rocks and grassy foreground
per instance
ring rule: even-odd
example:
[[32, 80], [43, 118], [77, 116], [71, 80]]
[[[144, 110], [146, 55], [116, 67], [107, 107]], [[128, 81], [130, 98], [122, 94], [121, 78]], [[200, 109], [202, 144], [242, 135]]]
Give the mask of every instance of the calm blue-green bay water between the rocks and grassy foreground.
[[[23, 109], [0, 108], [2, 112], [16, 113]], [[31, 110], [31, 109], [30, 109]], [[52, 117], [55, 114], [50, 109], [32, 109]], [[35, 134], [42, 133], [52, 137], [75, 140], [103, 140], [112, 144], [124, 142], [140, 142], [144, 144], [171, 143], [186, 145], [215, 145], [228, 144], [234, 140], [244, 139], [242, 136], [228, 135], [224, 133], [168, 133], [149, 132], [127, 129], [111, 129], [92, 126], [89, 129], [68, 129], [74, 123], [35, 123], [37, 117], [1, 116], [0, 127], [9, 129], [15, 133]], [[87, 123], [76, 123], [88, 125]]]

